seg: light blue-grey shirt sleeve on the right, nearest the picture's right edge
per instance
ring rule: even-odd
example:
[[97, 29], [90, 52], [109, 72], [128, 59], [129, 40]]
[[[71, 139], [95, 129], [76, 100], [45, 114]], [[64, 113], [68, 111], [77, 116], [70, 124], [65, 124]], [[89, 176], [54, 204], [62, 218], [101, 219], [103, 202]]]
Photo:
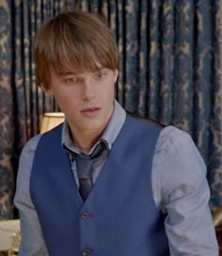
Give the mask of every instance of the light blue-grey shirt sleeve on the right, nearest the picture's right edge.
[[164, 128], [153, 157], [152, 190], [167, 213], [165, 227], [171, 256], [217, 256], [206, 166], [191, 137]]

